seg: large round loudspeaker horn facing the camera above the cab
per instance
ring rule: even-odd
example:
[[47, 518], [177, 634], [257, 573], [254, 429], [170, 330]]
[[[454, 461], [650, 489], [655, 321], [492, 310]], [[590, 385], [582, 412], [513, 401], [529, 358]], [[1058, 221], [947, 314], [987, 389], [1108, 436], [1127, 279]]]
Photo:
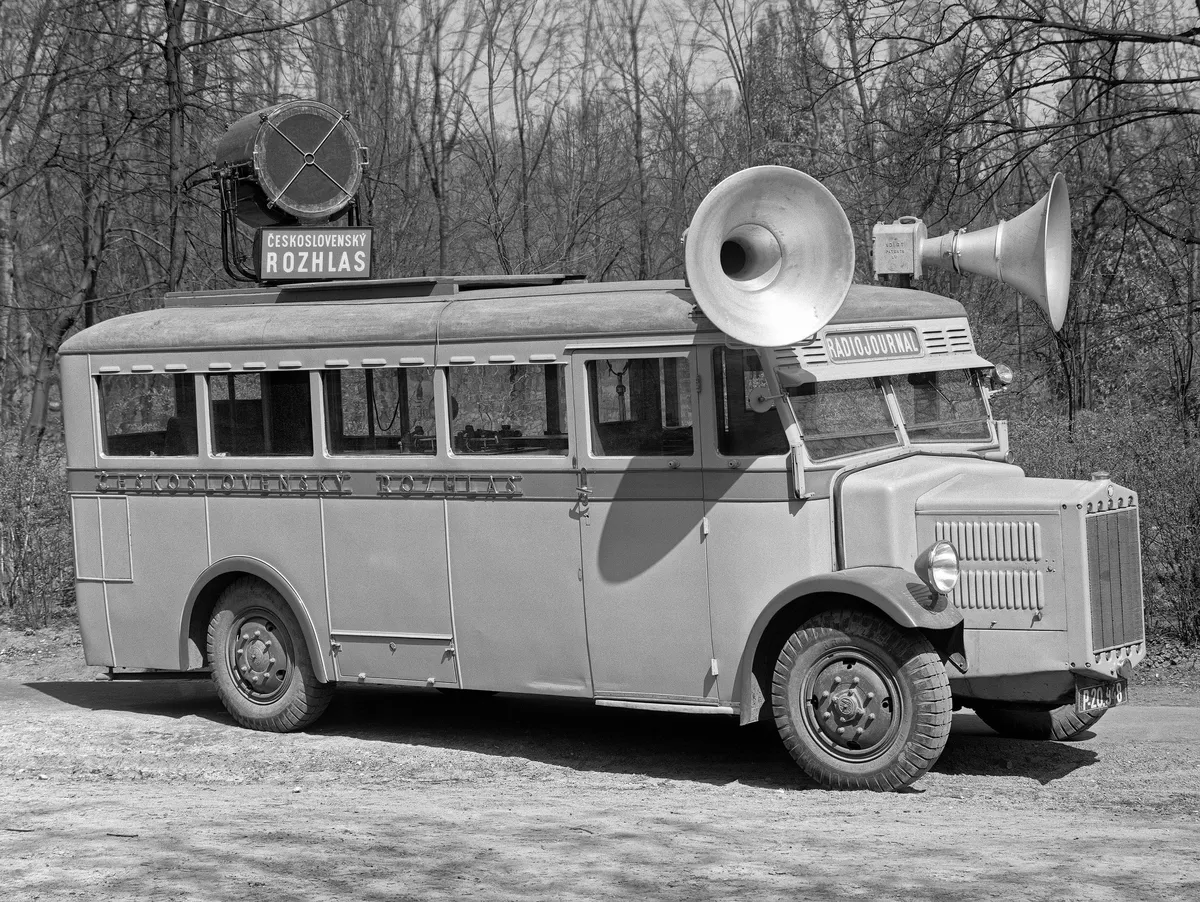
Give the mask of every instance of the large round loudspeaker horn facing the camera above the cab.
[[696, 208], [688, 281], [704, 314], [755, 347], [796, 344], [838, 312], [854, 277], [854, 236], [821, 182], [784, 166], [731, 175]]

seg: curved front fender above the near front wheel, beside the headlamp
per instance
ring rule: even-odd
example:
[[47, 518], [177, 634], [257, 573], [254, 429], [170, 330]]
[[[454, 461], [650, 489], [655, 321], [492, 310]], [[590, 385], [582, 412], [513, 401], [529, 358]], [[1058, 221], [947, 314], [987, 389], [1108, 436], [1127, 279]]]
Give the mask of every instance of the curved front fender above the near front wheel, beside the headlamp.
[[[834, 573], [822, 573], [793, 583], [779, 593], [762, 609], [746, 637], [742, 662], [738, 666], [738, 685], [734, 696], [740, 702], [742, 722], [749, 723], [757, 717], [760, 696], [755, 699], [754, 676], [755, 653], [763, 633], [775, 617], [793, 603], [804, 605], [805, 600], [817, 600], [818, 596], [845, 595], [857, 599], [899, 626], [912, 630], [930, 630], [947, 636], [958, 635], [961, 644], [962, 614], [950, 607], [944, 597], [935, 599], [919, 577], [899, 567], [852, 567]], [[816, 608], [814, 608], [815, 611]], [[943, 643], [950, 650], [954, 643]], [[943, 651], [943, 654], [948, 654]], [[760, 687], [761, 691], [761, 687]]]

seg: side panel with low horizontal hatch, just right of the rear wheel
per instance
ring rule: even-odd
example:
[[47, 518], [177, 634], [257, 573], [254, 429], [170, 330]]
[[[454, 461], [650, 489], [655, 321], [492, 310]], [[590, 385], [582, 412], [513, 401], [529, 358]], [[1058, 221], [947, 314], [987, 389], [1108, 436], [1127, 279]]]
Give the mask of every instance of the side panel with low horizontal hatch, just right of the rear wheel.
[[[440, 499], [323, 499], [340, 679], [458, 685]], [[371, 635], [365, 635], [371, 633]]]

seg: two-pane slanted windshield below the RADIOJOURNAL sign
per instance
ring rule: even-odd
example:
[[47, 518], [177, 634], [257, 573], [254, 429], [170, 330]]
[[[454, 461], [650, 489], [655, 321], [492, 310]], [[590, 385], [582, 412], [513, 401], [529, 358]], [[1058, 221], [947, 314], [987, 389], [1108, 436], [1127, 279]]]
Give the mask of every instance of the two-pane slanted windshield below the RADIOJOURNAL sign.
[[[900, 422], [887, 395], [895, 396]], [[988, 407], [976, 373], [948, 369], [869, 379], [809, 383], [787, 390], [809, 457], [832, 457], [911, 444], [986, 441]]]

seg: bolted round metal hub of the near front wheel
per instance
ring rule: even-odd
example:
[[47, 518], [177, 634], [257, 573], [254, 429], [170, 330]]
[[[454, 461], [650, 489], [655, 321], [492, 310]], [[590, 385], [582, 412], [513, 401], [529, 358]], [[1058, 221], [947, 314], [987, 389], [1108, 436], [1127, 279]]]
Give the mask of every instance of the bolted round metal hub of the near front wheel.
[[804, 726], [830, 754], [862, 763], [883, 754], [901, 721], [900, 686], [889, 669], [858, 648], [827, 651], [800, 687]]

